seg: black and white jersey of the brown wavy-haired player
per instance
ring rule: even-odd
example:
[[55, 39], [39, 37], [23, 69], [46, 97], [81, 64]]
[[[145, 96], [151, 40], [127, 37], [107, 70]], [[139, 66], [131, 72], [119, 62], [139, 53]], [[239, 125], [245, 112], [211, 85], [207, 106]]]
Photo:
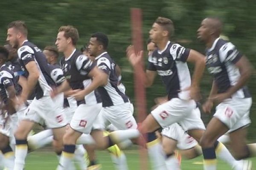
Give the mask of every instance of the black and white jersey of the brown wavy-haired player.
[[[69, 57], [61, 58], [60, 65], [67, 82], [69, 82], [69, 85], [73, 90], [84, 89], [92, 82], [92, 79], [88, 74], [96, 64], [82, 54], [81, 51], [74, 49]], [[98, 91], [95, 90], [86, 95], [83, 100], [77, 101], [77, 105], [85, 103], [89, 105], [100, 102], [102, 102], [101, 97]]]

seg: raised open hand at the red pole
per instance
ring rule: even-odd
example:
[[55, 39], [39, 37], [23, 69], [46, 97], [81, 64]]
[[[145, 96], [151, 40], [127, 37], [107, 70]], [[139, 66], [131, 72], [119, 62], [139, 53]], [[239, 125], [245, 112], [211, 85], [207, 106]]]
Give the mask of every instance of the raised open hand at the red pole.
[[132, 66], [138, 65], [143, 59], [143, 51], [140, 51], [136, 54], [133, 45], [129, 45], [126, 48], [126, 55]]

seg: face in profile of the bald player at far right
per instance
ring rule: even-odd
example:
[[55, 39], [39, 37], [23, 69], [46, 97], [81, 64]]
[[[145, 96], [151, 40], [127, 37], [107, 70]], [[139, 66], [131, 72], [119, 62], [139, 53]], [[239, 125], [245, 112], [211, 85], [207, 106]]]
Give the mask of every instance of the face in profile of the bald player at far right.
[[207, 41], [209, 36], [210, 36], [210, 28], [209, 28], [209, 23], [208, 19], [204, 19], [201, 22], [201, 26], [198, 28], [197, 35], [198, 39], [201, 41]]

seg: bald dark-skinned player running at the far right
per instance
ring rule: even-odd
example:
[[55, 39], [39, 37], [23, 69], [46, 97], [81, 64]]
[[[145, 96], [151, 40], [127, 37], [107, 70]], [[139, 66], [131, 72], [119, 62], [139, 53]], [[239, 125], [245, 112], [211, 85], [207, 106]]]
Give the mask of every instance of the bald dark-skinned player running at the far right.
[[200, 141], [204, 150], [204, 170], [217, 169], [214, 146], [218, 144], [217, 139], [227, 132], [230, 133], [234, 156], [243, 163], [239, 169], [250, 170], [251, 162], [243, 160], [256, 153], [256, 144], [246, 145], [252, 105], [246, 87], [251, 74], [250, 62], [235, 45], [219, 37], [221, 30], [222, 23], [218, 18], [206, 18], [198, 28], [198, 39], [207, 47], [207, 70], [213, 76], [212, 89], [203, 110], [210, 113], [213, 104], [218, 104]]

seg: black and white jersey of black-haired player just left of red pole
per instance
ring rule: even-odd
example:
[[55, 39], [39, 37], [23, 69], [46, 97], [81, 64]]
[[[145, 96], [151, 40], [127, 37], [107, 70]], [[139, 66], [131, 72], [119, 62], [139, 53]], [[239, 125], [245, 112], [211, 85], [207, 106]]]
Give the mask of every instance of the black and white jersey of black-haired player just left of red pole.
[[102, 97], [102, 106], [109, 107], [120, 105], [129, 102], [128, 96], [122, 93], [118, 85], [118, 77], [115, 71], [115, 62], [107, 52], [100, 54], [95, 58], [99, 69], [108, 74], [108, 84], [104, 87], [99, 87], [99, 93]]

